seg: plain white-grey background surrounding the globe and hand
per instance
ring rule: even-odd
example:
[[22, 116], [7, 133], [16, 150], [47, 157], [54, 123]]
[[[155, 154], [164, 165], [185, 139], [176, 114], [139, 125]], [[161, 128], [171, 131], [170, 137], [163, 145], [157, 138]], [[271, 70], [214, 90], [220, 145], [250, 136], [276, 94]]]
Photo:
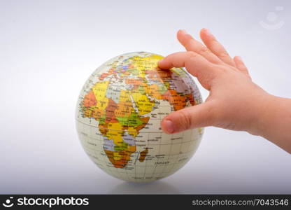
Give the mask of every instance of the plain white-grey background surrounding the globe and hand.
[[290, 1], [0, 1], [0, 193], [291, 193], [291, 155], [261, 137], [207, 127], [180, 171], [134, 184], [87, 158], [74, 120], [94, 69], [125, 52], [183, 50], [178, 29], [211, 29], [255, 83], [291, 97], [290, 15]]

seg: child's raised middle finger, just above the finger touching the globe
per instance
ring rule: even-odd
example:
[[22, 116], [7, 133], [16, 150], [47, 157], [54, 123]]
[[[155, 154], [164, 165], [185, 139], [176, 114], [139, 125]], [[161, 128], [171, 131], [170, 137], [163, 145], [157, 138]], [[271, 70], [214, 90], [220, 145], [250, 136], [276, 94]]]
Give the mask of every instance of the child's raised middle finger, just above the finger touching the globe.
[[197, 52], [198, 54], [208, 59], [210, 62], [216, 64], [222, 63], [222, 61], [211, 52], [211, 50], [206, 48], [199, 41], [194, 40], [194, 38], [190, 34], [187, 34], [185, 30], [179, 30], [177, 33], [177, 38], [187, 51]]

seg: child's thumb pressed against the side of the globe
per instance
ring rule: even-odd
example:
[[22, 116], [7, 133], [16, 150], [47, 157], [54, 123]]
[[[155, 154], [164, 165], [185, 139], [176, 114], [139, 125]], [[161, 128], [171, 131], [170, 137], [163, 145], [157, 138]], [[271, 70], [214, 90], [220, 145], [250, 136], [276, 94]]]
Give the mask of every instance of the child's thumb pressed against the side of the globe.
[[214, 116], [211, 102], [180, 109], [164, 117], [161, 126], [166, 134], [182, 132], [195, 127], [210, 126]]

